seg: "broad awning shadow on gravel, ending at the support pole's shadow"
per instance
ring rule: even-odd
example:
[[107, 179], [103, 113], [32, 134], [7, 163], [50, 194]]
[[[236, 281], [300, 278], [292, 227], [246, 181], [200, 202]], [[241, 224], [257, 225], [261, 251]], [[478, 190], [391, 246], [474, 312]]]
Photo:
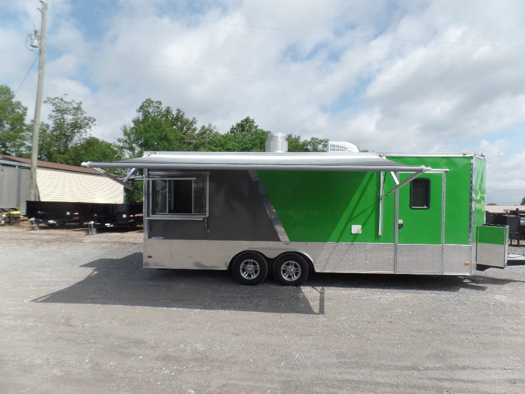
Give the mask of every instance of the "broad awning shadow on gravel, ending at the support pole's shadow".
[[241, 286], [227, 271], [144, 269], [142, 253], [100, 259], [80, 267], [92, 272], [82, 281], [33, 302], [319, 313], [299, 287], [283, 287], [271, 281]]

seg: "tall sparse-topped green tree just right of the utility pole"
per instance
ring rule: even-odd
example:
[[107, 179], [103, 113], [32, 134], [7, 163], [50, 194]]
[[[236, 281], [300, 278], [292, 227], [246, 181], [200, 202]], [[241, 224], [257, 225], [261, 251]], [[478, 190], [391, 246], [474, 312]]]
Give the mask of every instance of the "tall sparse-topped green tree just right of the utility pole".
[[51, 125], [40, 130], [39, 157], [42, 160], [68, 164], [77, 161], [72, 148], [82, 144], [96, 119], [86, 115], [82, 101], [68, 101], [64, 97], [47, 98], [44, 103], [53, 109]]

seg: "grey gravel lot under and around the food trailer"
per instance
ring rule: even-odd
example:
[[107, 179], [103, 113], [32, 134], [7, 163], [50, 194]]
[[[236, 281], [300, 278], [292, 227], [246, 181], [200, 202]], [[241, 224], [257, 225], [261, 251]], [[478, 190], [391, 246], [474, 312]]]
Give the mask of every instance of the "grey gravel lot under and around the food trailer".
[[524, 266], [248, 287], [86, 232], [0, 227], [0, 392], [525, 392]]

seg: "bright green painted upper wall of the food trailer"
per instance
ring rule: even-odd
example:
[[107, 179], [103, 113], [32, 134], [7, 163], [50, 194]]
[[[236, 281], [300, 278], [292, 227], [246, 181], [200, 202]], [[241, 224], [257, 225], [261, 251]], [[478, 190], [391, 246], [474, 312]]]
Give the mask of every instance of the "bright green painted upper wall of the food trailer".
[[[426, 208], [411, 208], [413, 184], [399, 190], [398, 216], [403, 220], [403, 231], [398, 232], [400, 243], [468, 245], [476, 242], [475, 228], [485, 220], [484, 160], [463, 155], [389, 159], [411, 165], [423, 162], [433, 169], [446, 169], [419, 177], [429, 182]], [[394, 242], [396, 196], [393, 194], [383, 199], [382, 234], [379, 231], [379, 172], [258, 171], [258, 175], [291, 241]], [[401, 174], [400, 178], [408, 175], [411, 173]], [[392, 177], [385, 177], [384, 190], [394, 185]], [[353, 234], [352, 224], [362, 225], [362, 232]]]

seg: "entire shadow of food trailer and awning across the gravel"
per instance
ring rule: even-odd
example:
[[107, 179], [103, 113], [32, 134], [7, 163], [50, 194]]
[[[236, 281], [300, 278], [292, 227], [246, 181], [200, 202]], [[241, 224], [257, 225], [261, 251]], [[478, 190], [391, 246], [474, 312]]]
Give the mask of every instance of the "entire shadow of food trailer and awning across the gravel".
[[329, 288], [457, 292], [519, 282], [490, 276], [314, 273], [302, 287], [280, 286], [270, 275], [258, 286], [242, 286], [227, 271], [143, 269], [142, 253], [80, 267], [92, 271], [82, 281], [33, 302], [316, 315], [324, 314]]

